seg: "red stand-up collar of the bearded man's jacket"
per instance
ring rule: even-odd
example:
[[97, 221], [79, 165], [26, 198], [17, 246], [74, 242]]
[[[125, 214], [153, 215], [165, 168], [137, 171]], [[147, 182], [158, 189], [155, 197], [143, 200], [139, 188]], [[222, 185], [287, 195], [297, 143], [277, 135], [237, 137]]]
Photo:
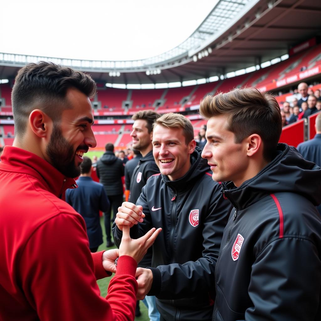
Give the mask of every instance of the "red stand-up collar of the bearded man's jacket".
[[77, 187], [73, 178], [65, 177], [46, 160], [13, 146], [4, 147], [0, 169], [32, 175], [43, 181], [48, 191], [58, 197], [61, 197], [66, 189]]

